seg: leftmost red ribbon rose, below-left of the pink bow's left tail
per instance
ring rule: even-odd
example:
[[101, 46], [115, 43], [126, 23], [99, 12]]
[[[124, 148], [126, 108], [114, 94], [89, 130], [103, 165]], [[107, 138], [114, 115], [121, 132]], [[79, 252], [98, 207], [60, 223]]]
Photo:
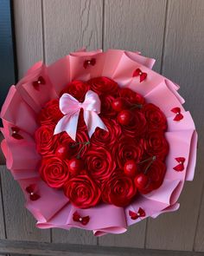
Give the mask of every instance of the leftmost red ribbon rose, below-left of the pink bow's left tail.
[[57, 147], [57, 135], [54, 126], [43, 125], [35, 131], [36, 149], [39, 154], [53, 154]]

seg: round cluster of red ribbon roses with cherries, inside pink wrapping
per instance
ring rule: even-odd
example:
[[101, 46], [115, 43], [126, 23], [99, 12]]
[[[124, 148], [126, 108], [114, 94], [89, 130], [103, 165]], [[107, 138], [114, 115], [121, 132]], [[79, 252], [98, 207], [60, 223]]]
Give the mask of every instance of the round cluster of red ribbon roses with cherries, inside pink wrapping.
[[67, 134], [54, 135], [63, 114], [59, 99], [46, 103], [38, 115], [35, 132], [42, 161], [39, 172], [49, 187], [61, 188], [75, 207], [94, 207], [101, 201], [125, 207], [137, 194], [160, 187], [166, 172], [169, 144], [166, 117], [143, 96], [107, 77], [67, 84], [61, 95], [84, 102], [88, 90], [99, 95], [101, 120], [91, 138], [80, 111], [76, 141]]

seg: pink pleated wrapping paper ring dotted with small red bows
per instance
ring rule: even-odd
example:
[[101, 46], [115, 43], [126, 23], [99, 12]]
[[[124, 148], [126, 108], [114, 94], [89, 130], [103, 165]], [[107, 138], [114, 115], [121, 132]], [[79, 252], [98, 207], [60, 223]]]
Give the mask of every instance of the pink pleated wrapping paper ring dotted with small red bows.
[[[14, 179], [22, 187], [26, 198], [26, 207], [35, 216], [36, 226], [40, 228], [71, 227], [92, 230], [94, 235], [105, 233], [124, 233], [128, 226], [147, 217], [156, 218], [159, 214], [178, 209], [177, 202], [184, 181], [192, 181], [196, 160], [197, 133], [194, 121], [188, 111], [182, 107], [184, 100], [178, 94], [179, 86], [163, 75], [152, 70], [155, 60], [141, 56], [139, 52], [109, 49], [86, 52], [85, 49], [70, 53], [48, 67], [37, 62], [24, 75], [16, 86], [11, 86], [3, 104], [1, 118], [4, 136], [2, 141], [6, 165]], [[147, 74], [143, 82], [135, 70]], [[149, 194], [139, 194], [126, 207], [100, 203], [86, 209], [74, 207], [62, 190], [49, 187], [39, 174], [41, 155], [36, 151], [35, 131], [39, 128], [37, 115], [44, 105], [53, 99], [59, 99], [67, 83], [74, 80], [88, 81], [91, 78], [105, 76], [118, 82], [120, 88], [128, 88], [143, 95], [146, 102], [156, 104], [167, 118], [168, 128], [165, 137], [169, 142], [169, 154], [166, 158], [166, 174], [163, 184]], [[40, 93], [34, 82], [43, 78]], [[173, 110], [173, 111], [172, 111]], [[176, 121], [176, 116], [182, 115]], [[16, 129], [15, 129], [16, 128]], [[16, 140], [18, 132], [21, 140]], [[182, 158], [184, 161], [176, 161]], [[182, 164], [182, 171], [175, 171], [176, 164]], [[35, 184], [40, 194], [37, 200], [30, 200], [34, 194], [28, 187]], [[145, 214], [141, 214], [141, 209]], [[80, 221], [73, 216], [77, 213]], [[135, 213], [137, 218], [131, 218]], [[88, 216], [86, 225], [82, 219]]]

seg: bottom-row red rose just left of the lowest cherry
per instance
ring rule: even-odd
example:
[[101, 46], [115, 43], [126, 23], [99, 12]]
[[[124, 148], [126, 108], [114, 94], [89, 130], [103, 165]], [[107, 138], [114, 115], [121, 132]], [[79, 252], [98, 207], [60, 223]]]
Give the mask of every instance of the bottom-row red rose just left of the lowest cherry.
[[102, 187], [102, 200], [117, 207], [126, 207], [137, 194], [132, 179], [124, 174], [114, 175]]

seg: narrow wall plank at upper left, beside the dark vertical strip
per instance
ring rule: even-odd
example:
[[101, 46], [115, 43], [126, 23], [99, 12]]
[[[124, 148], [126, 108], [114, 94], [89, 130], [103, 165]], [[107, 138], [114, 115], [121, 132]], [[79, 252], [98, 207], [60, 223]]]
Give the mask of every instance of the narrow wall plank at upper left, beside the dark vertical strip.
[[16, 0], [14, 5], [16, 54], [19, 78], [43, 59], [41, 0]]

